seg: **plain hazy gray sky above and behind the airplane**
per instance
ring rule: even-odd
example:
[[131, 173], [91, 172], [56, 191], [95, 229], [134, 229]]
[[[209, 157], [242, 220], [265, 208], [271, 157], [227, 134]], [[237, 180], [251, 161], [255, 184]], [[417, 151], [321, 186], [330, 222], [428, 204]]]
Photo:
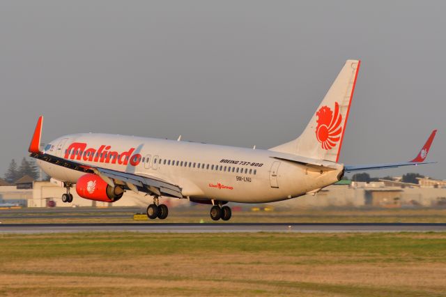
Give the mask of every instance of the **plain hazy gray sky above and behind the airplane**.
[[[361, 2], [361, 3], [360, 3]], [[340, 161], [405, 161], [433, 128], [446, 178], [443, 1], [1, 1], [0, 176], [43, 142], [109, 132], [269, 148], [362, 65]]]

